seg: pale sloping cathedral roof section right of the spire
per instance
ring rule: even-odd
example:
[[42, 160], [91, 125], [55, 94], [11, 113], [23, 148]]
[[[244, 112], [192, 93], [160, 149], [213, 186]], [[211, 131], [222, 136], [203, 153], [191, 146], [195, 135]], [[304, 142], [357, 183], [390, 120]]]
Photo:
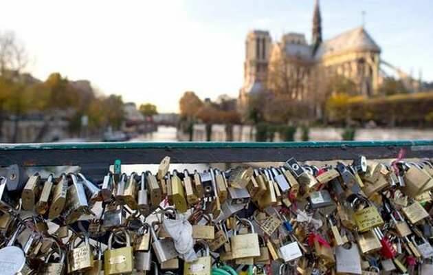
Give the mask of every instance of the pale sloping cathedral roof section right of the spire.
[[380, 47], [364, 28], [359, 27], [322, 42], [315, 52], [315, 58], [348, 51], [380, 52]]

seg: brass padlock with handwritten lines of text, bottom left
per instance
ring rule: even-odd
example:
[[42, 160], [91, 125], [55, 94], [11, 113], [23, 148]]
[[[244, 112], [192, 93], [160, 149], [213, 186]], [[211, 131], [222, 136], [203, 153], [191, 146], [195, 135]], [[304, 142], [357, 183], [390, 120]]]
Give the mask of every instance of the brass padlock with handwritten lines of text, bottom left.
[[[84, 244], [75, 247], [76, 239], [80, 237], [85, 240]], [[69, 272], [78, 270], [89, 270], [93, 267], [93, 252], [89, 243], [89, 236], [84, 232], [76, 233], [69, 239], [69, 252], [67, 255]]]

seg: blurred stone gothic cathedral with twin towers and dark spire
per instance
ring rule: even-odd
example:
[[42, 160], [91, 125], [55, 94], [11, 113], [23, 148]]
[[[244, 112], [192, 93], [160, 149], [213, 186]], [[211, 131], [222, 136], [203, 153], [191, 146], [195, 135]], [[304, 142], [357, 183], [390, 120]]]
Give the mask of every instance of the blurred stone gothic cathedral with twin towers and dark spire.
[[[322, 39], [320, 5], [315, 1], [311, 43], [304, 34], [289, 32], [273, 42], [269, 32], [254, 30], [245, 41], [244, 84], [238, 109], [247, 108], [249, 96], [282, 88], [291, 100], [324, 99], [326, 80], [344, 76], [357, 93], [371, 96], [379, 87], [381, 49], [364, 27]], [[319, 104], [318, 104], [319, 105]], [[320, 106], [315, 106], [320, 117]]]

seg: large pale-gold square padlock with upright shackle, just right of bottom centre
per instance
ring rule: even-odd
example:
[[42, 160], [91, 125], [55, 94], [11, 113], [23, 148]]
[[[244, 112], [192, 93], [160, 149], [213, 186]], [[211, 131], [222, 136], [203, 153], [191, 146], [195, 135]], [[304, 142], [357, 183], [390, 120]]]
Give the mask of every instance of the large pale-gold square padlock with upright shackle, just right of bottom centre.
[[232, 244], [232, 256], [234, 259], [257, 257], [260, 256], [260, 245], [258, 244], [258, 235], [254, 232], [254, 226], [247, 219], [240, 219], [240, 223], [247, 223], [251, 233], [237, 234], [237, 228], [234, 235], [230, 238]]

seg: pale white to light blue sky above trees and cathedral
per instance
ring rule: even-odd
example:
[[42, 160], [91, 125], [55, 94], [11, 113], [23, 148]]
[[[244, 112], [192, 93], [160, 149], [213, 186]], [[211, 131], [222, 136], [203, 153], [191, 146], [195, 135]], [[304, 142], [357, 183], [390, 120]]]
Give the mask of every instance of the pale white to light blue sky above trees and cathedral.
[[[311, 40], [313, 0], [1, 1], [0, 32], [13, 31], [44, 80], [60, 72], [103, 94], [178, 111], [184, 91], [237, 97], [245, 37], [269, 30]], [[322, 0], [324, 39], [362, 25], [381, 58], [433, 80], [433, 3], [429, 0]]]

